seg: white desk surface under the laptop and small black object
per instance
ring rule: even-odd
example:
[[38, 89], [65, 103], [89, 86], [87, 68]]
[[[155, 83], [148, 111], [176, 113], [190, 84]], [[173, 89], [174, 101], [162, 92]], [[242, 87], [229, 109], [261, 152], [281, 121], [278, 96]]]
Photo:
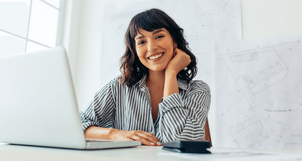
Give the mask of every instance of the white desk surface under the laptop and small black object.
[[[210, 151], [243, 150], [239, 148], [212, 147]], [[244, 149], [257, 152], [278, 152], [284, 154], [302, 154], [302, 151], [288, 150], [264, 150]], [[74, 150], [51, 147], [36, 147], [23, 145], [0, 145], [0, 160], [184, 160], [184, 158], [173, 157], [171, 151], [163, 150], [162, 146], [137, 146], [132, 148], [102, 149], [102, 150]], [[302, 156], [302, 155], [301, 155]], [[195, 160], [195, 159], [185, 159]], [[296, 159], [295, 159], [296, 160]], [[300, 157], [298, 160], [302, 160]]]

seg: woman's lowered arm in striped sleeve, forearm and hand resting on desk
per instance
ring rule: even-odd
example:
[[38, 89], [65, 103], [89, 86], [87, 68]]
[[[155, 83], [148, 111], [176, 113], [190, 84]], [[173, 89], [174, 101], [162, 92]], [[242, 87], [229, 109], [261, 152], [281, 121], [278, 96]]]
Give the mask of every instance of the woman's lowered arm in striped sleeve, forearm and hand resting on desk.
[[[111, 81], [98, 91], [91, 103], [80, 116], [86, 138], [112, 139], [112, 140], [136, 140], [145, 145], [161, 145], [160, 140], [152, 133], [141, 130], [125, 131], [112, 127], [112, 119], [115, 114], [114, 92], [115, 82]], [[118, 84], [119, 85], [119, 84]]]

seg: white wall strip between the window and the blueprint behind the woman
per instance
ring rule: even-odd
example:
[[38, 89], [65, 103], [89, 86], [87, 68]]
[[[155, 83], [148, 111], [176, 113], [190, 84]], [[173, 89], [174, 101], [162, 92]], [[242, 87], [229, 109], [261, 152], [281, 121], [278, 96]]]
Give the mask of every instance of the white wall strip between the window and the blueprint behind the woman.
[[102, 88], [99, 81], [104, 8], [127, 2], [133, 1], [66, 0], [63, 46], [67, 51], [79, 110], [84, 110]]

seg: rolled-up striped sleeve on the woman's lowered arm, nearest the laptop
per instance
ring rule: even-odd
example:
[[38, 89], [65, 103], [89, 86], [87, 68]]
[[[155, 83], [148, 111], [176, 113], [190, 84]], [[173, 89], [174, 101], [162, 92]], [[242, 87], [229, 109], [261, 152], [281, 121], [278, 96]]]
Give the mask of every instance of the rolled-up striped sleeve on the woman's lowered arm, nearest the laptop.
[[84, 131], [89, 126], [112, 126], [112, 117], [115, 114], [113, 89], [114, 86], [111, 81], [95, 94], [93, 100], [84, 109], [84, 111], [80, 111]]

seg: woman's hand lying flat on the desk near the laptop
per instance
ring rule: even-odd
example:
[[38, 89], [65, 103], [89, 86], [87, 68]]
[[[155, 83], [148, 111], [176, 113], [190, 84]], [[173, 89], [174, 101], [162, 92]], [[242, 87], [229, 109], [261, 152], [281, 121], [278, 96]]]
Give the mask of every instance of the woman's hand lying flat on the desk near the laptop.
[[125, 130], [118, 130], [112, 129], [112, 135], [110, 139], [112, 140], [135, 140], [141, 141], [141, 143], [149, 146], [161, 146], [162, 143], [160, 140], [154, 136], [152, 133], [144, 132], [141, 130], [134, 130], [134, 131], [125, 131]]

